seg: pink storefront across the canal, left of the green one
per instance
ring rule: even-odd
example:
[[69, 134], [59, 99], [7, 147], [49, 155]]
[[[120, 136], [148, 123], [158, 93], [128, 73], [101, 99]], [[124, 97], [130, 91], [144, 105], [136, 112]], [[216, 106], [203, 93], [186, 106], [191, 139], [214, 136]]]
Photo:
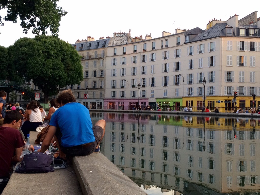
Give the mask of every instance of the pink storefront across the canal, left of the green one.
[[[149, 105], [148, 98], [140, 98], [141, 108]], [[138, 99], [104, 99], [104, 109], [132, 110], [138, 105]]]

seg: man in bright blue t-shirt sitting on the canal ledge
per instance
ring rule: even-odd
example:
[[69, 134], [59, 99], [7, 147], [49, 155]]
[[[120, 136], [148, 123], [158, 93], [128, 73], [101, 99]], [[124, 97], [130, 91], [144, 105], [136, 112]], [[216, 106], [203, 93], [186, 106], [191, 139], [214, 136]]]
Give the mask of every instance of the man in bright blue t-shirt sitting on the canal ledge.
[[[106, 121], [101, 119], [92, 127], [89, 110], [76, 99], [72, 91], [64, 90], [57, 98], [60, 108], [51, 117], [49, 131], [40, 152], [45, 152], [54, 137], [60, 158], [89, 155], [100, 151]], [[39, 151], [39, 150], [38, 150]]]

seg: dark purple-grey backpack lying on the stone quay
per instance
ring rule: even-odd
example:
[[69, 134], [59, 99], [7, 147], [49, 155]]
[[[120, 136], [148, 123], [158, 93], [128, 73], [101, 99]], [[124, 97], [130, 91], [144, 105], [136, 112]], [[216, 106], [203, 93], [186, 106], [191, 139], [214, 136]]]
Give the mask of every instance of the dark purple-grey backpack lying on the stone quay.
[[53, 172], [54, 168], [50, 166], [53, 162], [53, 157], [41, 152], [32, 152], [25, 154], [23, 160], [16, 173], [48, 173]]

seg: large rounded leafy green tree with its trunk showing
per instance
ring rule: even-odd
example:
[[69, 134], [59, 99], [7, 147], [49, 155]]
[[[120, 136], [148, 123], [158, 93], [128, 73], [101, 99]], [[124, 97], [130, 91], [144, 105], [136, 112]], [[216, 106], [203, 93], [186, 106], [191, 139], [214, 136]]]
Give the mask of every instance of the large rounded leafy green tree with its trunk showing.
[[14, 44], [12, 63], [18, 74], [41, 88], [44, 103], [60, 88], [83, 80], [81, 56], [73, 46], [57, 37], [41, 35], [21, 38]]

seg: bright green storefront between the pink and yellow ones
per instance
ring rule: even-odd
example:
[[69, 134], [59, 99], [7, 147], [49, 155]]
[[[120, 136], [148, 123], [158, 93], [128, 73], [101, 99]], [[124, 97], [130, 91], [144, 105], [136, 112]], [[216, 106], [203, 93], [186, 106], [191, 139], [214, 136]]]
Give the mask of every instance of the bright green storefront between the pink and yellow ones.
[[161, 110], [167, 110], [168, 107], [172, 107], [172, 110], [179, 111], [182, 107], [182, 98], [158, 98], [156, 102], [159, 103]]

